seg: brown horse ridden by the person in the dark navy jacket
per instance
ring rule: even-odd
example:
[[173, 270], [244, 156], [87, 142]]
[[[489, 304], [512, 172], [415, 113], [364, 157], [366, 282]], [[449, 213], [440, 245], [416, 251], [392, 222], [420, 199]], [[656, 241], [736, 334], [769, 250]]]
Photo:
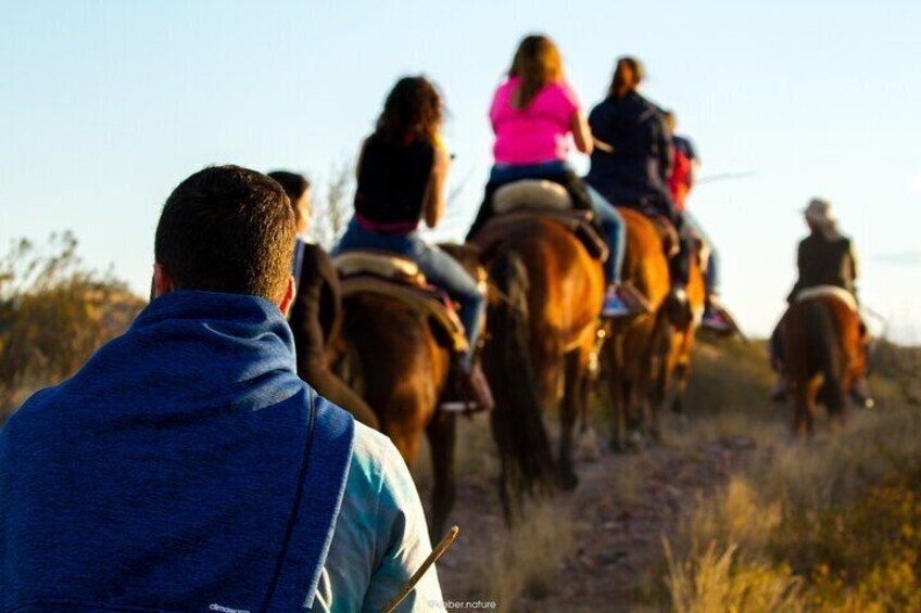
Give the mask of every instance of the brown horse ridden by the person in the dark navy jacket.
[[653, 400], [663, 359], [663, 307], [671, 281], [663, 239], [653, 221], [633, 208], [618, 210], [627, 224], [623, 280], [631, 282], [651, 306], [648, 314], [616, 320], [605, 350], [614, 405], [611, 447], [626, 451], [642, 434], [657, 434]]

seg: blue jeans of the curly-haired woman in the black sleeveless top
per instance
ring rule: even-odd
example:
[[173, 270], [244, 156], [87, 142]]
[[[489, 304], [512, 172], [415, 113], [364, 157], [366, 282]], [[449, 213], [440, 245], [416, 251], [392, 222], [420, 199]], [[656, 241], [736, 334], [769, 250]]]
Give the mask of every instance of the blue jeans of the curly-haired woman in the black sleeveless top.
[[467, 354], [463, 366], [469, 370], [480, 336], [480, 328], [487, 312], [487, 299], [477, 281], [456, 259], [433, 245], [428, 245], [416, 232], [408, 234], [380, 234], [358, 226], [355, 219], [349, 222], [345, 233], [339, 239], [332, 253], [349, 250], [380, 250], [408, 257], [419, 266], [429, 283], [438, 285], [460, 304], [460, 323], [467, 335]]

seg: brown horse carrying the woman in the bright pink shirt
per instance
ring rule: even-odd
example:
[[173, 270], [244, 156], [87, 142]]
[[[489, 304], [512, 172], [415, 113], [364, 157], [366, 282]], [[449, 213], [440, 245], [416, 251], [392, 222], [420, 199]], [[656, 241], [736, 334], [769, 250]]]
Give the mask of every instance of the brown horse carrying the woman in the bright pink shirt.
[[[583, 243], [550, 218], [496, 219], [474, 242], [483, 246], [493, 284], [483, 367], [496, 401], [500, 499], [510, 521], [521, 494], [578, 483], [573, 426], [588, 404], [604, 276]], [[557, 404], [562, 433], [554, 461], [542, 411]]]

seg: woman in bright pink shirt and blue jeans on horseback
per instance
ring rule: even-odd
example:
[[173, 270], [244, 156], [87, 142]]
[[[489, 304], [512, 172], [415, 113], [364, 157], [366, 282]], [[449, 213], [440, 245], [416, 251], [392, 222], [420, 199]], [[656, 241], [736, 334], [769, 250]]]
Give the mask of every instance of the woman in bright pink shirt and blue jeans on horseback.
[[592, 133], [579, 99], [566, 80], [563, 59], [553, 40], [532, 35], [520, 42], [508, 78], [493, 94], [489, 116], [495, 132], [495, 163], [468, 235], [491, 218], [493, 196], [502, 186], [521, 179], [559, 183], [569, 192], [573, 208], [593, 213], [598, 233], [608, 245], [604, 265], [608, 290], [602, 316], [611, 318], [633, 312], [638, 304], [635, 291], [620, 284], [626, 243], [623, 219], [603, 199], [589, 193], [567, 161], [570, 138], [580, 152], [591, 153]]

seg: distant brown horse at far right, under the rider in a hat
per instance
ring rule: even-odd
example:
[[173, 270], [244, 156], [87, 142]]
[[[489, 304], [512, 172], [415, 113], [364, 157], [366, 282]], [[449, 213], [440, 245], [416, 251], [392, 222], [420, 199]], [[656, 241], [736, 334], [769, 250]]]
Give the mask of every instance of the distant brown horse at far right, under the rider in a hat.
[[813, 434], [819, 400], [833, 425], [844, 421], [848, 395], [866, 368], [856, 305], [836, 293], [794, 301], [781, 323], [797, 436]]

